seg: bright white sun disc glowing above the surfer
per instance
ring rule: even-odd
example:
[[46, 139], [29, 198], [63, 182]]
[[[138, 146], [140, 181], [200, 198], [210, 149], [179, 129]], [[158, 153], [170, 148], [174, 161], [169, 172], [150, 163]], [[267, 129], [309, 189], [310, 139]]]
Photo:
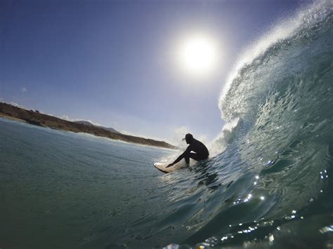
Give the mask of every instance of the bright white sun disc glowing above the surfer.
[[214, 39], [204, 35], [193, 35], [181, 43], [178, 59], [185, 72], [203, 76], [216, 69], [218, 57], [218, 46]]

